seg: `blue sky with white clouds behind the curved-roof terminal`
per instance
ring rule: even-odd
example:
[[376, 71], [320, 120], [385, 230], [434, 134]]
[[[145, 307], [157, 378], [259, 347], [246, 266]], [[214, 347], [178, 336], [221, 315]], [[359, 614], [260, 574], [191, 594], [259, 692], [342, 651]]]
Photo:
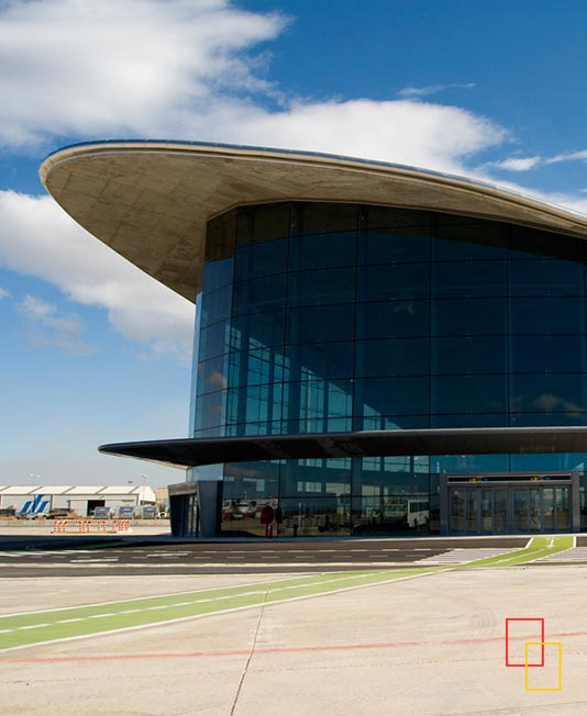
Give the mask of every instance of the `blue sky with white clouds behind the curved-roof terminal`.
[[193, 304], [46, 194], [77, 142], [308, 149], [587, 214], [584, 0], [0, 0], [0, 484], [180, 482]]

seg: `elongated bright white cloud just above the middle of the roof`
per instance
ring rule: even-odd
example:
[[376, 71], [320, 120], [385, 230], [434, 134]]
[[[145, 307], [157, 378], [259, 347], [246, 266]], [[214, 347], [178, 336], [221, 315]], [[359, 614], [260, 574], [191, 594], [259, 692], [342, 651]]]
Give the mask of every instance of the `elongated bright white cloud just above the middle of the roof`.
[[214, 127], [224, 141], [456, 172], [465, 170], [467, 157], [508, 136], [499, 125], [461, 108], [367, 99], [295, 103], [279, 112], [247, 107], [236, 116], [217, 118]]

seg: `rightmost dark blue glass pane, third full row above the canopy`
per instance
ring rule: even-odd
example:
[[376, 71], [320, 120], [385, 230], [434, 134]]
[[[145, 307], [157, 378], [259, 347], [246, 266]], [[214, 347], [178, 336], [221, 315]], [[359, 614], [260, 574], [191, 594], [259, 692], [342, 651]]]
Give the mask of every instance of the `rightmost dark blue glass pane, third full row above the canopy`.
[[578, 334], [585, 329], [583, 299], [512, 298], [510, 305], [512, 334]]

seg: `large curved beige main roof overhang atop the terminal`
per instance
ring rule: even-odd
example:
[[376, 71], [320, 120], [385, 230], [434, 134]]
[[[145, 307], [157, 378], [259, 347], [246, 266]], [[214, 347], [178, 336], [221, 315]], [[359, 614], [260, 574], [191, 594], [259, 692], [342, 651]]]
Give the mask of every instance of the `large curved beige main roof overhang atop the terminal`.
[[508, 221], [587, 238], [587, 216], [499, 187], [348, 157], [181, 142], [98, 142], [52, 154], [41, 179], [81, 226], [190, 301], [206, 223], [236, 205], [336, 201]]

